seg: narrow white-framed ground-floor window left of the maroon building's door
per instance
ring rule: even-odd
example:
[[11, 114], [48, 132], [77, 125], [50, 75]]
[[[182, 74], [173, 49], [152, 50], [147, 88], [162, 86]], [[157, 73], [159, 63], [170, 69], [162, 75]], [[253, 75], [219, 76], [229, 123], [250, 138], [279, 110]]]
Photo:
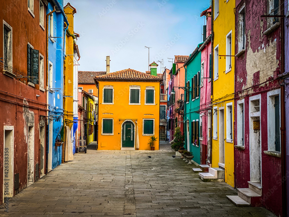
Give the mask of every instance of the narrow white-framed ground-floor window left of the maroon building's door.
[[[243, 111], [242, 111], [243, 110]], [[245, 146], [245, 100], [237, 102], [237, 146]], [[244, 124], [243, 124], [244, 123]]]

